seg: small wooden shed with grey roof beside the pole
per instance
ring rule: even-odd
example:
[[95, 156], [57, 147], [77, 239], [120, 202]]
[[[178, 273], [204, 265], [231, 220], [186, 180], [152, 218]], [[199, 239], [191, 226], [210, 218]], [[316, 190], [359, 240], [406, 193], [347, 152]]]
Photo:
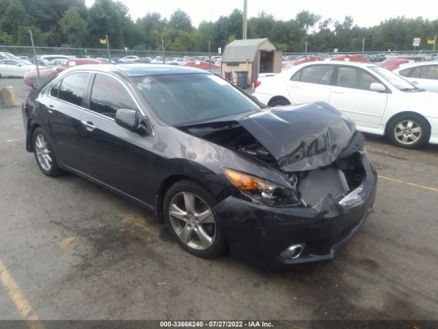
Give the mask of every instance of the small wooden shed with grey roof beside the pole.
[[237, 82], [236, 72], [248, 71], [246, 85], [250, 86], [259, 73], [280, 73], [282, 54], [268, 38], [234, 40], [224, 49], [222, 77]]

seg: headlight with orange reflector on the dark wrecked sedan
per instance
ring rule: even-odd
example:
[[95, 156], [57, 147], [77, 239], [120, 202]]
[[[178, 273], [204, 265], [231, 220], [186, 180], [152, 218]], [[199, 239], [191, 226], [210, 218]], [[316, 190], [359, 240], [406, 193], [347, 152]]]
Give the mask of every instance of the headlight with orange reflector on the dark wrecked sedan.
[[240, 171], [228, 168], [223, 168], [222, 172], [244, 195], [251, 199], [256, 199], [263, 204], [274, 204], [279, 195], [285, 194], [284, 190], [289, 190], [285, 186], [249, 175], [248, 173], [241, 173]]

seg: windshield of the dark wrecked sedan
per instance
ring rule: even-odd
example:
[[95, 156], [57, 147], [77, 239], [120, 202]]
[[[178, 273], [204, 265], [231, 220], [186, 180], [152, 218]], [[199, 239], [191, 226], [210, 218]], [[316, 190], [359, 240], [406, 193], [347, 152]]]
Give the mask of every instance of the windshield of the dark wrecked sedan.
[[168, 125], [188, 125], [261, 107], [213, 74], [133, 77], [133, 84], [159, 119]]

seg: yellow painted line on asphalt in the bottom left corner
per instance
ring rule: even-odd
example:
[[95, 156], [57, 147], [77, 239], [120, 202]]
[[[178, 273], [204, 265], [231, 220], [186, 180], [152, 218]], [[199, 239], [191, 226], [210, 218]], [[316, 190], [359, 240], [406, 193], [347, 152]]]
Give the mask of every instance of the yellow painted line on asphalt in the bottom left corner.
[[15, 307], [20, 311], [23, 319], [29, 320], [29, 328], [31, 329], [43, 329], [42, 324], [38, 319], [38, 315], [34, 313], [29, 302], [27, 302], [23, 293], [18, 289], [14, 278], [12, 278], [10, 271], [5, 267], [5, 264], [0, 259], [0, 282], [8, 291], [12, 302], [14, 302]]

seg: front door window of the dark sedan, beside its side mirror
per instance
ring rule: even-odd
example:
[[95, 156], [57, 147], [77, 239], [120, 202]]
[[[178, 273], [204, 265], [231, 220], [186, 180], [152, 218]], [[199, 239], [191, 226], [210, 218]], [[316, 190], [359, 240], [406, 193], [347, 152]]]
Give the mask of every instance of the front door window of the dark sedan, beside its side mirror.
[[114, 119], [120, 108], [137, 110], [136, 103], [123, 84], [113, 77], [96, 74], [91, 91], [90, 110]]

